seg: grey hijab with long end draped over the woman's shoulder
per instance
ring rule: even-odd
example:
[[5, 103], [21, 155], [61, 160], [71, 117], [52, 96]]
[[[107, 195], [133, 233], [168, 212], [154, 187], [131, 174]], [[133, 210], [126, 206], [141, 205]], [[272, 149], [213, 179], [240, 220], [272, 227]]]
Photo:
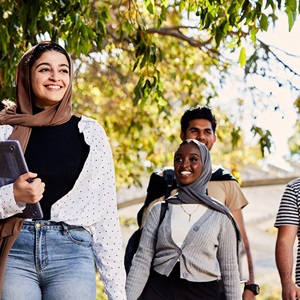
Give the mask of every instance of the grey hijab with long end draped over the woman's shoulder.
[[201, 203], [204, 204], [211, 209], [217, 210], [223, 214], [226, 214], [228, 218], [231, 220], [237, 237], [237, 257], [238, 257], [238, 264], [239, 264], [239, 272], [240, 272], [240, 280], [241, 282], [245, 282], [249, 280], [249, 273], [247, 267], [247, 256], [245, 247], [243, 244], [242, 236], [238, 225], [233, 218], [229, 209], [223, 205], [221, 202], [217, 201], [216, 199], [211, 198], [207, 195], [207, 185], [212, 175], [212, 166], [210, 160], [210, 153], [209, 150], [205, 145], [198, 142], [197, 140], [186, 140], [182, 142], [181, 145], [194, 143], [198, 146], [201, 154], [202, 160], [202, 173], [197, 180], [193, 183], [188, 185], [182, 185], [180, 182], [177, 181], [178, 184], [178, 193], [172, 197], [169, 197], [166, 201], [172, 204], [181, 204], [181, 203]]

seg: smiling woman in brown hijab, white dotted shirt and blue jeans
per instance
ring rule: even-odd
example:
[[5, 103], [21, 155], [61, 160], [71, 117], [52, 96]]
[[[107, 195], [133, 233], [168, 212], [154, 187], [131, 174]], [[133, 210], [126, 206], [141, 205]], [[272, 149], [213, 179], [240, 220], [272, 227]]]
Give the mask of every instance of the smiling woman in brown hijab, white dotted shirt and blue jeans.
[[72, 78], [67, 52], [39, 43], [18, 64], [16, 105], [0, 112], [0, 140], [19, 140], [30, 170], [0, 187], [0, 219], [26, 203], [44, 214], [22, 223], [2, 300], [95, 299], [95, 263], [108, 299], [126, 299], [111, 148], [101, 125], [72, 113]]

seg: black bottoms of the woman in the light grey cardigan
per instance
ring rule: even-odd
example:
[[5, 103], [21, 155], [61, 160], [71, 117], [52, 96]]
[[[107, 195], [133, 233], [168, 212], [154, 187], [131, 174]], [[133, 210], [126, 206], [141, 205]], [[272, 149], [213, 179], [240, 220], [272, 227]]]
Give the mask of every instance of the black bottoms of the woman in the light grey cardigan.
[[179, 263], [170, 276], [151, 270], [140, 300], [219, 300], [219, 282], [191, 282], [180, 278]]

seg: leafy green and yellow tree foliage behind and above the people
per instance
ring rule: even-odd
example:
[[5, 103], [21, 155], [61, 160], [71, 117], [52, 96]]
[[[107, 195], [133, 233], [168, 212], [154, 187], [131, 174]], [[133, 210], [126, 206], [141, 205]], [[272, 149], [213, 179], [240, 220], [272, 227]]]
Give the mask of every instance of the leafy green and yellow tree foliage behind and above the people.
[[[2, 1], [0, 96], [14, 99], [15, 67], [30, 45], [44, 39], [63, 43], [76, 66], [75, 111], [104, 125], [119, 182], [138, 184], [148, 168], [172, 163], [182, 109], [210, 105], [218, 96], [236, 63], [228, 53], [239, 52], [246, 77], [280, 81], [269, 70], [274, 59], [299, 78], [257, 39], [276, 23], [278, 11], [285, 10], [291, 29], [299, 9], [296, 0]], [[293, 82], [284, 84], [299, 89]], [[253, 133], [264, 154], [270, 135], [256, 126]], [[229, 153], [243, 147], [229, 119], [221, 122], [220, 135]]]

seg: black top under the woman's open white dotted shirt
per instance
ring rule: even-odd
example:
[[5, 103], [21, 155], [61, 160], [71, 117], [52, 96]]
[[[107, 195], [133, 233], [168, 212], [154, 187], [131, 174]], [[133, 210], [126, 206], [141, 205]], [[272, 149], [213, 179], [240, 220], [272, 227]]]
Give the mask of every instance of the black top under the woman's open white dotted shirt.
[[51, 218], [52, 205], [74, 186], [89, 153], [83, 134], [78, 130], [80, 118], [59, 126], [34, 127], [25, 152], [31, 172], [45, 182], [40, 201], [44, 220]]

